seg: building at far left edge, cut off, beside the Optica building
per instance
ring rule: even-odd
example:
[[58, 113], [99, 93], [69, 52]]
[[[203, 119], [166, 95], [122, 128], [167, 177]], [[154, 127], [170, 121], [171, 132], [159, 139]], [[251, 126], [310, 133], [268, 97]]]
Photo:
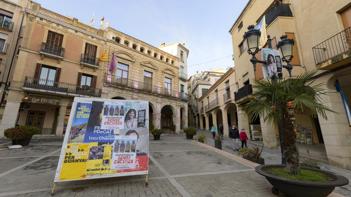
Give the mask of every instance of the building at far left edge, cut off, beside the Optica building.
[[17, 61], [19, 37], [26, 20], [24, 15], [26, 1], [23, 0], [0, 0], [0, 79], [2, 92], [0, 93], [0, 123], [4, 114], [5, 91], [7, 84], [12, 79], [13, 68]]

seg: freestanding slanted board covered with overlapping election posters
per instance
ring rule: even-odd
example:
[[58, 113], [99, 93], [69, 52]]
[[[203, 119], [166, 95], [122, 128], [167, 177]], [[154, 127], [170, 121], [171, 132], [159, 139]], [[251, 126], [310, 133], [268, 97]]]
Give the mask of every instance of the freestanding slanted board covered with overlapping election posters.
[[148, 109], [75, 97], [54, 182], [148, 174]]

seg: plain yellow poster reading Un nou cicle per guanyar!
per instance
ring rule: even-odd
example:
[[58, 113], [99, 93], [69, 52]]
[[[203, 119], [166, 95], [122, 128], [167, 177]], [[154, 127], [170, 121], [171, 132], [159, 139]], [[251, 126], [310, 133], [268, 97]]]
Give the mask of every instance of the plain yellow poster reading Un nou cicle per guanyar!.
[[84, 179], [89, 155], [89, 144], [67, 144], [59, 181]]

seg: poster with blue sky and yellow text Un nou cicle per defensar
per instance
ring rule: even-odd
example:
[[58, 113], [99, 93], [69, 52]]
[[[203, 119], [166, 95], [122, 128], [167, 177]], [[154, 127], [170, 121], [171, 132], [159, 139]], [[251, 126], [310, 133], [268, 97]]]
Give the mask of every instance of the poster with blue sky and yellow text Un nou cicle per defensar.
[[69, 143], [78, 144], [84, 141], [90, 110], [91, 103], [77, 103], [77, 110], [75, 110], [74, 114]]

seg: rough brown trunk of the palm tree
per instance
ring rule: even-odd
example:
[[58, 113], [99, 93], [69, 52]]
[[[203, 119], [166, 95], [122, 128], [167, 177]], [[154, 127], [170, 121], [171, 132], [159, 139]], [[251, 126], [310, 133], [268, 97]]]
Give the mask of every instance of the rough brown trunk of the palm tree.
[[287, 102], [280, 103], [282, 110], [282, 131], [284, 155], [286, 158], [285, 171], [287, 174], [298, 174], [300, 170], [299, 151], [296, 147], [296, 133], [292, 123], [291, 115], [287, 110]]

